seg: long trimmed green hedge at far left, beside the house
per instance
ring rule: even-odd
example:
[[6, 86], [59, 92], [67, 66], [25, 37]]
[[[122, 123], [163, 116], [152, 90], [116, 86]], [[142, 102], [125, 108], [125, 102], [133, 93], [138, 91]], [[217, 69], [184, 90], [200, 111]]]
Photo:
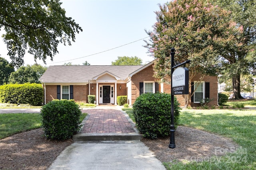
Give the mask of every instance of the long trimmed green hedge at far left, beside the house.
[[0, 102], [42, 106], [44, 89], [41, 84], [6, 84], [0, 86]]

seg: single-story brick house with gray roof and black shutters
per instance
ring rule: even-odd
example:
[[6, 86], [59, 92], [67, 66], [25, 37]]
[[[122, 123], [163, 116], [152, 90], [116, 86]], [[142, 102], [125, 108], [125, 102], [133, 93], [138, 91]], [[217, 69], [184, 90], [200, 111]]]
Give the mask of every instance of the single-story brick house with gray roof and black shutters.
[[[142, 93], [170, 94], [170, 84], [159, 84], [154, 78], [153, 65], [152, 61], [143, 66], [49, 66], [40, 78], [44, 88], [44, 104], [54, 99], [88, 102], [88, 95], [95, 95], [97, 105], [117, 105], [117, 96], [127, 96], [127, 103], [132, 105]], [[192, 84], [196, 84], [197, 80], [199, 77], [195, 77]], [[191, 96], [191, 89], [189, 92]], [[180, 106], [184, 106], [184, 96], [176, 97]], [[217, 76], [204, 77], [189, 106], [200, 106], [200, 100], [207, 97], [211, 100], [210, 106], [218, 105]]]

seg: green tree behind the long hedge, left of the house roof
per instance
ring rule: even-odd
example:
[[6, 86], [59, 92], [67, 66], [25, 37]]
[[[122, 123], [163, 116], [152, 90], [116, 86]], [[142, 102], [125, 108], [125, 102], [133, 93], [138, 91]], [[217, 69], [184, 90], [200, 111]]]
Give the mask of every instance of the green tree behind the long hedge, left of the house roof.
[[46, 69], [47, 67], [41, 66], [40, 64], [21, 66], [18, 70], [11, 73], [9, 83], [41, 83], [39, 78], [44, 74]]

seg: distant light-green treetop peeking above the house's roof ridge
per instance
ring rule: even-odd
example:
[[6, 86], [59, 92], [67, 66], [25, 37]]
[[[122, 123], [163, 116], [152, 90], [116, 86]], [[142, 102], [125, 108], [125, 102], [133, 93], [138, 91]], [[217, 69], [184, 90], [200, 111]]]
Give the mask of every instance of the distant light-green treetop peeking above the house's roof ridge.
[[115, 61], [112, 61], [111, 65], [142, 65], [142, 59], [134, 56], [134, 57], [118, 57]]

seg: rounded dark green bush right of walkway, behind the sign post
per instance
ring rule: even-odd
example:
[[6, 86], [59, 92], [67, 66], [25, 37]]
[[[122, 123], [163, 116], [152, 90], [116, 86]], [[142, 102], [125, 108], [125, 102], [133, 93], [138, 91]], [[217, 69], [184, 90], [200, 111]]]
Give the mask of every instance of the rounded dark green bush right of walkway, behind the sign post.
[[[156, 139], [170, 135], [171, 95], [146, 93], [133, 104], [133, 114], [138, 130], [143, 137]], [[174, 126], [179, 124], [180, 104], [174, 98]]]

